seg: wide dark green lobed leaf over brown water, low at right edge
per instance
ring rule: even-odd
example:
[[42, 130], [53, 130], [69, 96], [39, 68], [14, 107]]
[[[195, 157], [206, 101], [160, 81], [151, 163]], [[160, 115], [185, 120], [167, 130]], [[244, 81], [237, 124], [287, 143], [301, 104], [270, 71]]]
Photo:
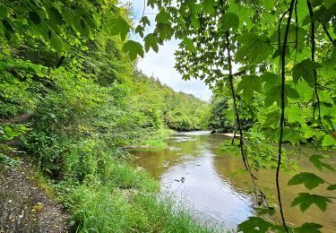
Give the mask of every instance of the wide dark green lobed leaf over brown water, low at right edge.
[[306, 211], [312, 204], [315, 204], [321, 211], [327, 210], [327, 203], [332, 203], [332, 201], [325, 196], [300, 193], [290, 204], [291, 207], [300, 204], [301, 211]]

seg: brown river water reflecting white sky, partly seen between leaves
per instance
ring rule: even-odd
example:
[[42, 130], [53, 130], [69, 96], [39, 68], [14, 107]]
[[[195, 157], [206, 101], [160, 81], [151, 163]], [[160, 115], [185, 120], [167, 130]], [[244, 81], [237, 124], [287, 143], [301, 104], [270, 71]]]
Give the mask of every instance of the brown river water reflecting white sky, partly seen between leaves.
[[[230, 140], [228, 137], [209, 133], [171, 134], [167, 140], [167, 149], [133, 151], [137, 157], [134, 162], [159, 179], [162, 192], [173, 194], [177, 201], [196, 211], [202, 220], [225, 229], [236, 229], [237, 224], [255, 214], [254, 195], [247, 192], [251, 190], [251, 178], [247, 174], [231, 176], [243, 168], [242, 160], [220, 151], [220, 144]], [[335, 155], [324, 162], [336, 168]], [[329, 183], [336, 184], [336, 172], [324, 169], [319, 172], [306, 158], [301, 158], [300, 170], [312, 171]], [[325, 212], [314, 205], [305, 212], [301, 212], [298, 206], [289, 208], [298, 193], [309, 192], [304, 186], [287, 186], [292, 176], [288, 173], [280, 174], [282, 202], [289, 225], [317, 222], [323, 225], [323, 232], [336, 232], [334, 203], [329, 204]], [[259, 186], [266, 188], [275, 198], [275, 171], [261, 171], [257, 177]], [[326, 187], [319, 186], [310, 193], [336, 196], [335, 191], [327, 191]]]

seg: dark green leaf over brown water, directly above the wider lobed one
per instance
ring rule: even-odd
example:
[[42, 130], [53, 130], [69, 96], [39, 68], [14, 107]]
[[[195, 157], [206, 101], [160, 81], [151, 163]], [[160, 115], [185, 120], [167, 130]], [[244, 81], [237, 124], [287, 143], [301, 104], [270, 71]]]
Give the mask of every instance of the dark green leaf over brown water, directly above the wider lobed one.
[[306, 188], [313, 189], [320, 184], [324, 184], [324, 180], [321, 177], [317, 177], [314, 173], [311, 172], [301, 172], [289, 180], [289, 186], [297, 186], [304, 184]]

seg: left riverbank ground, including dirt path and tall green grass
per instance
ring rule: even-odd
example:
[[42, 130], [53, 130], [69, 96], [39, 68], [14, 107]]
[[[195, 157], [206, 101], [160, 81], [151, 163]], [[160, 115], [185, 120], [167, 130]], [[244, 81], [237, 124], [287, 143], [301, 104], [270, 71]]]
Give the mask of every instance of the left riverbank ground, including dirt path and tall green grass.
[[[163, 135], [160, 132], [158, 140]], [[28, 160], [17, 167], [0, 165], [0, 232], [218, 231], [201, 224], [173, 198], [159, 194], [159, 181], [127, 158], [104, 158], [100, 177], [83, 182], [50, 179]]]

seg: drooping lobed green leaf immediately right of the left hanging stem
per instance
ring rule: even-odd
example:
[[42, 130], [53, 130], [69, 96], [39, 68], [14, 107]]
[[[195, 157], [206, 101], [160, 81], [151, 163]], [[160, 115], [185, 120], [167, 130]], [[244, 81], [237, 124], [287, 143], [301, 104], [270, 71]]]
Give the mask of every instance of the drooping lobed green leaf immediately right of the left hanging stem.
[[245, 75], [238, 83], [237, 92], [243, 91], [243, 99], [249, 101], [254, 97], [254, 91], [260, 93], [262, 91], [262, 83], [260, 77], [256, 75]]

